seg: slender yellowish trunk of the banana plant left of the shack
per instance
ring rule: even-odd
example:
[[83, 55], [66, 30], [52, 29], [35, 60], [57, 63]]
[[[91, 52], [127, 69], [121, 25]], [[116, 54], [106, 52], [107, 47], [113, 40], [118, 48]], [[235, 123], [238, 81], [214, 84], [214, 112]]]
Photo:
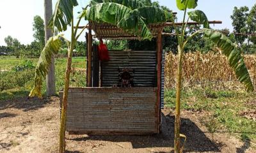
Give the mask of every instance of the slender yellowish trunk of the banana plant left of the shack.
[[68, 87], [69, 87], [73, 49], [74, 47], [71, 45], [71, 48], [68, 52], [67, 69], [65, 73], [65, 86], [63, 91], [63, 102], [62, 102], [62, 108], [61, 108], [59, 153], [65, 152], [65, 131], [66, 131], [66, 115], [67, 115], [67, 104], [68, 104]]

